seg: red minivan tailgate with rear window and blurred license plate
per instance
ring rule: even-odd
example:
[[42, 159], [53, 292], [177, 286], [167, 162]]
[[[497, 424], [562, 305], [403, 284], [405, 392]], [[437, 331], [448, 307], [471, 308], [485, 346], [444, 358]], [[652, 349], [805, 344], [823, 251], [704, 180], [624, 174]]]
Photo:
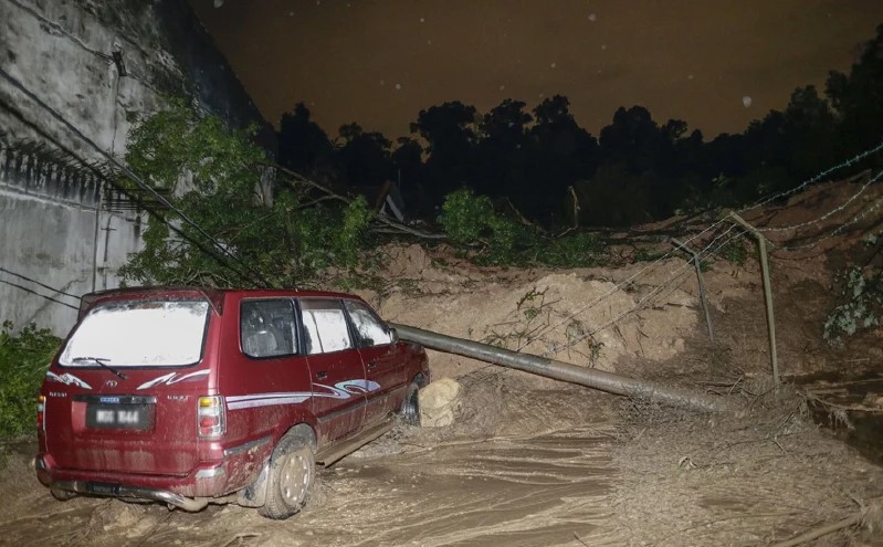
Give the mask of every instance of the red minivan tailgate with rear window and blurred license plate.
[[[209, 391], [203, 298], [109, 301], [86, 314], [46, 372], [46, 451], [61, 469], [189, 473]], [[217, 315], [214, 315], [217, 316]]]

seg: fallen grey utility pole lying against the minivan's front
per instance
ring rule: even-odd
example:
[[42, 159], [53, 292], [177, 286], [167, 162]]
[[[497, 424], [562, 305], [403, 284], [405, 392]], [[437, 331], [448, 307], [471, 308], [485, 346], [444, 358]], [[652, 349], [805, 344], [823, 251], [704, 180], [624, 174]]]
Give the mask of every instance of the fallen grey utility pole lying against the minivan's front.
[[660, 386], [655, 382], [637, 380], [613, 372], [605, 372], [592, 368], [582, 368], [569, 362], [556, 361], [529, 354], [519, 354], [508, 349], [490, 346], [479, 341], [455, 338], [408, 325], [390, 324], [404, 340], [416, 341], [424, 347], [462, 355], [493, 365], [501, 365], [516, 370], [530, 372], [555, 380], [561, 380], [587, 388], [599, 389], [608, 393], [649, 399], [675, 407], [690, 407], [698, 410], [722, 412], [727, 409], [727, 401], [704, 393], [685, 389]]

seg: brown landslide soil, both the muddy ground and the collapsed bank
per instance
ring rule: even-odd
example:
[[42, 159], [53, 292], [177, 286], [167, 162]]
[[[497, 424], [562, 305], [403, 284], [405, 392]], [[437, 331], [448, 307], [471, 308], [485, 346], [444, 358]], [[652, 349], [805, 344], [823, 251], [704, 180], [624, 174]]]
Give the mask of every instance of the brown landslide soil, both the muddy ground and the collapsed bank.
[[[718, 261], [704, 273], [714, 346], [695, 272], [676, 255], [610, 269], [501, 270], [443, 249], [388, 248], [389, 286], [364, 294], [396, 323], [718, 393], [738, 402], [729, 413], [660, 408], [430, 351], [433, 376], [463, 388], [454, 423], [402, 427], [344, 459], [319, 473], [311, 504], [288, 520], [236, 506], [187, 514], [112, 499], [56, 502], [34, 477], [35, 446], [23, 443], [0, 471], [0, 543], [770, 545], [865, 511], [862, 525], [810, 545], [883, 545], [875, 516], [883, 470], [812, 420], [821, 404], [828, 412], [820, 415], [843, 425], [849, 415], [838, 404], [874, 413], [883, 399], [871, 390], [849, 402], [838, 391], [842, 381], [806, 380], [883, 368], [880, 329], [840, 349], [821, 336], [833, 273], [854, 259], [854, 242], [881, 213], [850, 220], [879, 203], [879, 186], [822, 221], [814, 220], [860, 186], [822, 185], [748, 215], [758, 225], [809, 221], [768, 235], [788, 381], [778, 391], [750, 253], [745, 265]], [[848, 229], [833, 233], [840, 225]], [[822, 252], [788, 249], [818, 239]], [[798, 377], [805, 381], [792, 385]], [[841, 399], [826, 403], [826, 389]]]

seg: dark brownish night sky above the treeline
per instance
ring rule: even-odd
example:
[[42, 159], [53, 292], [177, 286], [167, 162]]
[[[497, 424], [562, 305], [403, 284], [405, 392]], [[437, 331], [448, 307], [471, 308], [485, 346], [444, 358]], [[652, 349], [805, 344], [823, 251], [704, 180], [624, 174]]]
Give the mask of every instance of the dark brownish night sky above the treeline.
[[555, 94], [596, 136], [633, 105], [706, 139], [742, 133], [848, 72], [883, 22], [881, 0], [191, 3], [269, 122], [304, 102], [330, 137], [356, 122], [390, 139], [446, 101], [485, 113]]

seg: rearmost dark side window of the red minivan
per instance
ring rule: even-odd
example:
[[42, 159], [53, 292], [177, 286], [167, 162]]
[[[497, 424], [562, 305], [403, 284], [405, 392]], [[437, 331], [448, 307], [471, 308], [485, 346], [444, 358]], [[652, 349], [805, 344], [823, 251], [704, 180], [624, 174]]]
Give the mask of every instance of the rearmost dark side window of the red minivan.
[[249, 357], [280, 357], [297, 351], [294, 306], [286, 298], [242, 301], [240, 344]]

